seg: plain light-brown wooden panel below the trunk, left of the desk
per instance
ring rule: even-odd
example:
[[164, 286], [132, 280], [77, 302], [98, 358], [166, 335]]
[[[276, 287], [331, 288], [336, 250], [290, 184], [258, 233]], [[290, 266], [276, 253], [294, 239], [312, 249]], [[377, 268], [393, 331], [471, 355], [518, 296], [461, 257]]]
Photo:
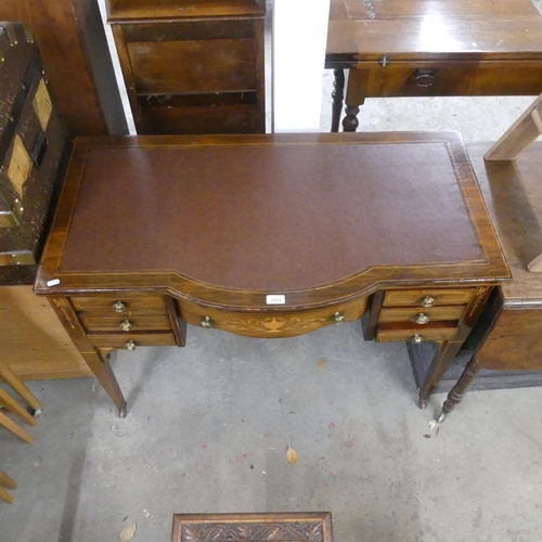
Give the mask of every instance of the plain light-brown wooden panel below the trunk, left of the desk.
[[48, 300], [31, 286], [0, 287], [0, 359], [24, 380], [91, 375]]

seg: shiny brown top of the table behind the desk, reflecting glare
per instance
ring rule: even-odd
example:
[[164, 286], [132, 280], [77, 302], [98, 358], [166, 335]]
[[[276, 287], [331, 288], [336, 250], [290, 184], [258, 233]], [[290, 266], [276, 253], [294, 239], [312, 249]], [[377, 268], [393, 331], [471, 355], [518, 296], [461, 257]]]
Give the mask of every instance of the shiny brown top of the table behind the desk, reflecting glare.
[[327, 60], [541, 59], [539, 0], [332, 0]]

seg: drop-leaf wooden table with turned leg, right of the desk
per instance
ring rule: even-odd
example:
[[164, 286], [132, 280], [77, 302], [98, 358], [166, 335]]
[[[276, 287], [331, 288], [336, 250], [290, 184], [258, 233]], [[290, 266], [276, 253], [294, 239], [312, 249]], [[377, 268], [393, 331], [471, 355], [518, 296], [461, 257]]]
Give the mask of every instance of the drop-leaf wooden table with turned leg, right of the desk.
[[527, 264], [542, 253], [542, 144], [534, 143], [515, 162], [483, 162], [490, 144], [469, 153], [489, 211], [512, 271], [512, 281], [495, 288], [486, 310], [488, 326], [444, 414], [462, 400], [480, 369], [542, 371], [542, 274]]

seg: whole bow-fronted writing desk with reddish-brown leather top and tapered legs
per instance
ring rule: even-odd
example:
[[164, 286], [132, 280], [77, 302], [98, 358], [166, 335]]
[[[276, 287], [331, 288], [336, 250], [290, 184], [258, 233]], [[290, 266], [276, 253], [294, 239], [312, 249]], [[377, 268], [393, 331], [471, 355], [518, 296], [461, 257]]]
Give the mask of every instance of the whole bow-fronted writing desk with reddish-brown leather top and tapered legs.
[[423, 403], [508, 276], [455, 132], [81, 138], [35, 292], [124, 415], [113, 349], [363, 315], [438, 345]]

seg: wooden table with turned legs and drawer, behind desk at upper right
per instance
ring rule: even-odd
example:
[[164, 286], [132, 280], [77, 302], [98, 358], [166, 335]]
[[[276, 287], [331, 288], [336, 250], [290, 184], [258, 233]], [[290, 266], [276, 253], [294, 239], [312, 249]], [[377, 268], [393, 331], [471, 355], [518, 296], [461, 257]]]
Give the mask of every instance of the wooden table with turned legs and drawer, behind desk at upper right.
[[541, 10], [534, 0], [332, 0], [332, 131], [345, 68], [345, 131], [356, 131], [365, 98], [540, 94]]

